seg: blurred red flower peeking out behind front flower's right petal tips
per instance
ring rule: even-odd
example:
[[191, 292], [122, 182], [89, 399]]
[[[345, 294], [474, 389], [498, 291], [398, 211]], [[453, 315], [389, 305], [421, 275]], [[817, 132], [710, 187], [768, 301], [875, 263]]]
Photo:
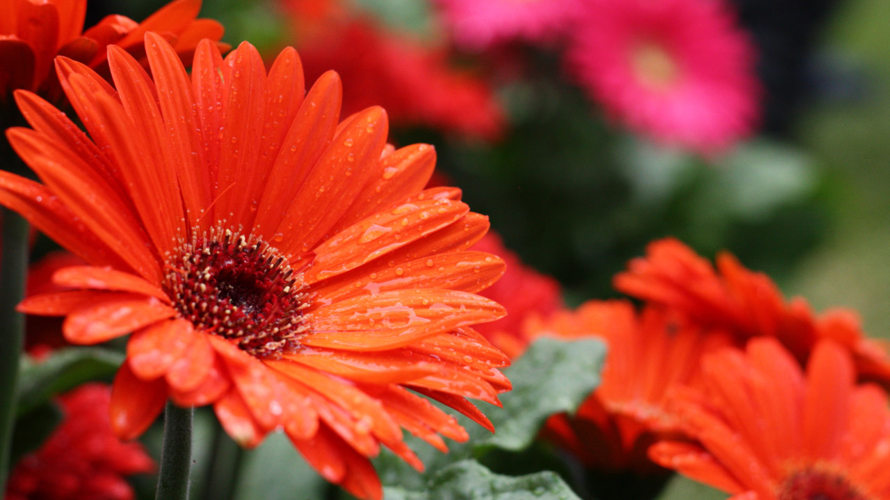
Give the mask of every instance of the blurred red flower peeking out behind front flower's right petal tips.
[[530, 343], [522, 324], [532, 317], [546, 319], [561, 310], [564, 307], [562, 288], [554, 278], [525, 265], [519, 255], [506, 249], [495, 233], [485, 235], [473, 246], [473, 250], [504, 259], [504, 276], [481, 295], [502, 304], [509, 311], [506, 318], [479, 325], [476, 329], [510, 358], [516, 358]]

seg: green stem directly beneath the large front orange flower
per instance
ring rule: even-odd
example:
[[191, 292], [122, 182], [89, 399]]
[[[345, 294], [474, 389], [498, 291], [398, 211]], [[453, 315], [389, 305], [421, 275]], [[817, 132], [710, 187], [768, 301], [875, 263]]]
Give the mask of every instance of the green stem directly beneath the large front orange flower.
[[167, 401], [164, 411], [164, 449], [155, 500], [189, 498], [191, 469], [191, 420], [194, 408], [181, 408]]

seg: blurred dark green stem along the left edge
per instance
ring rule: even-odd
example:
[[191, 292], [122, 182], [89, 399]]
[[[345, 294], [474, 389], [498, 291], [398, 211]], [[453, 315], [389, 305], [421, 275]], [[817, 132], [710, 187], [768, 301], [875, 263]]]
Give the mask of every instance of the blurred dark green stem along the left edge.
[[12, 426], [15, 422], [19, 358], [25, 343], [24, 315], [15, 310], [25, 295], [28, 272], [28, 222], [0, 208], [3, 247], [0, 249], [0, 491], [6, 490], [10, 469]]

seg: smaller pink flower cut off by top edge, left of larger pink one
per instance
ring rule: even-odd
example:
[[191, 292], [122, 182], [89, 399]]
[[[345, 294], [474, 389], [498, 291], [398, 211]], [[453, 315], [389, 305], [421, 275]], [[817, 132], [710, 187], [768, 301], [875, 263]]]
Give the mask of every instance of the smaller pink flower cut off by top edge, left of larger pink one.
[[479, 51], [512, 39], [546, 42], [578, 14], [578, 0], [438, 0], [455, 44]]

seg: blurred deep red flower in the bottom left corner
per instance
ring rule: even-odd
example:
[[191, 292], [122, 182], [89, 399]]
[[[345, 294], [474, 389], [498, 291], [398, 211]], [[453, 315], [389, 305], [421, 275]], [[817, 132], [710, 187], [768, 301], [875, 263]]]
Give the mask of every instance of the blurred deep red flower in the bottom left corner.
[[64, 420], [34, 453], [15, 464], [6, 500], [131, 500], [124, 476], [152, 472], [140, 443], [122, 443], [111, 431], [111, 390], [87, 383], [62, 395]]

